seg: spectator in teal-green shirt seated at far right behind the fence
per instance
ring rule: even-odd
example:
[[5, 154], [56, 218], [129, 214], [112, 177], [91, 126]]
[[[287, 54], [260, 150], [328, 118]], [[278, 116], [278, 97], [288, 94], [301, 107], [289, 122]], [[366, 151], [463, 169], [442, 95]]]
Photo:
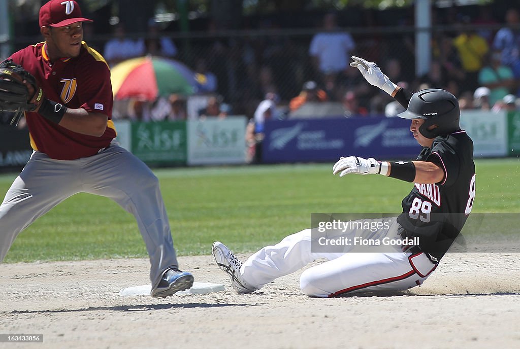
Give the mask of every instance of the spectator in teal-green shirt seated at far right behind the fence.
[[478, 82], [480, 86], [485, 86], [491, 90], [489, 95], [490, 105], [495, 104], [505, 95], [509, 95], [510, 90], [515, 85], [515, 80], [511, 68], [502, 64], [500, 51], [491, 52], [488, 64], [480, 70]]

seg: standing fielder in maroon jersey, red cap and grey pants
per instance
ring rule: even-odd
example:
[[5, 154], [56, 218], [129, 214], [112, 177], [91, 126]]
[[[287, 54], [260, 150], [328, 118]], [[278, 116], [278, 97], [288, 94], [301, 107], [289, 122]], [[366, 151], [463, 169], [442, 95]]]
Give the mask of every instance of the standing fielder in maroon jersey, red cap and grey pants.
[[40, 9], [45, 41], [11, 56], [45, 99], [25, 115], [34, 152], [0, 206], [0, 261], [38, 217], [76, 193], [96, 194], [134, 214], [150, 256], [151, 296], [171, 296], [193, 276], [178, 270], [157, 177], [113, 140], [110, 70], [83, 41], [83, 22], [92, 21], [75, 1], [49, 1]]

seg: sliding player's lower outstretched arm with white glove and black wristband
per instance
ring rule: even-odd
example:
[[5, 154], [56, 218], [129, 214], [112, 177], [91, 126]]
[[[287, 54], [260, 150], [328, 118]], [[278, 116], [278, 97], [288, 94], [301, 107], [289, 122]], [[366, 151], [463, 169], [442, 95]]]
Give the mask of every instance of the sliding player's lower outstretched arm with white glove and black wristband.
[[332, 173], [340, 177], [348, 173], [382, 174], [406, 182], [435, 184], [444, 179], [444, 170], [434, 163], [425, 161], [387, 162], [359, 156], [341, 157], [332, 167]]

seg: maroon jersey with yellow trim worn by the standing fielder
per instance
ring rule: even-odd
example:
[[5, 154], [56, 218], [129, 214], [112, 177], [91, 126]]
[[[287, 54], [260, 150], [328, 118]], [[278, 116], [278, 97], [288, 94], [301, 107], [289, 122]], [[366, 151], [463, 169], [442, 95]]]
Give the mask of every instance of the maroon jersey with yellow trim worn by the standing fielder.
[[53, 123], [38, 113], [27, 112], [31, 146], [49, 157], [73, 160], [97, 154], [116, 136], [112, 118], [112, 84], [105, 59], [82, 42], [80, 55], [51, 63], [45, 43], [28, 46], [11, 58], [36, 78], [51, 101], [68, 108], [108, 116], [107, 129], [101, 137], [82, 135]]

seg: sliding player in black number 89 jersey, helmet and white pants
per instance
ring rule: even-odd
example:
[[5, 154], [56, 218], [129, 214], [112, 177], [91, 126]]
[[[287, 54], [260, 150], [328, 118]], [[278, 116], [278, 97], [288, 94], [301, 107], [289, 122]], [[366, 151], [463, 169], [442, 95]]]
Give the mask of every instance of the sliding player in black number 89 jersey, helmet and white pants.
[[[354, 221], [347, 229], [330, 234], [335, 241], [373, 237], [397, 241], [395, 247], [368, 246], [353, 252], [355, 243], [342, 252], [313, 250], [320, 235], [311, 229], [289, 235], [241, 262], [224, 244], [213, 244], [217, 265], [226, 272], [238, 293], [260, 289], [277, 277], [309, 262], [328, 259], [302, 273], [300, 287], [308, 296], [334, 297], [347, 292], [405, 290], [421, 285], [435, 270], [470, 214], [475, 198], [473, 142], [459, 128], [460, 109], [448, 91], [426, 89], [410, 93], [398, 87], [372, 62], [353, 57], [372, 85], [394, 97], [407, 110], [398, 114], [411, 119], [410, 131], [423, 149], [416, 160], [385, 162], [357, 156], [342, 157], [333, 174], [382, 174], [414, 183], [402, 200], [402, 213], [394, 218]], [[359, 224], [357, 224], [359, 223]], [[375, 224], [374, 224], [375, 223]], [[378, 226], [376, 232], [371, 228]], [[329, 234], [329, 232], [327, 233]], [[347, 246], [349, 245], [349, 246]], [[359, 250], [358, 250], [359, 251]]]

